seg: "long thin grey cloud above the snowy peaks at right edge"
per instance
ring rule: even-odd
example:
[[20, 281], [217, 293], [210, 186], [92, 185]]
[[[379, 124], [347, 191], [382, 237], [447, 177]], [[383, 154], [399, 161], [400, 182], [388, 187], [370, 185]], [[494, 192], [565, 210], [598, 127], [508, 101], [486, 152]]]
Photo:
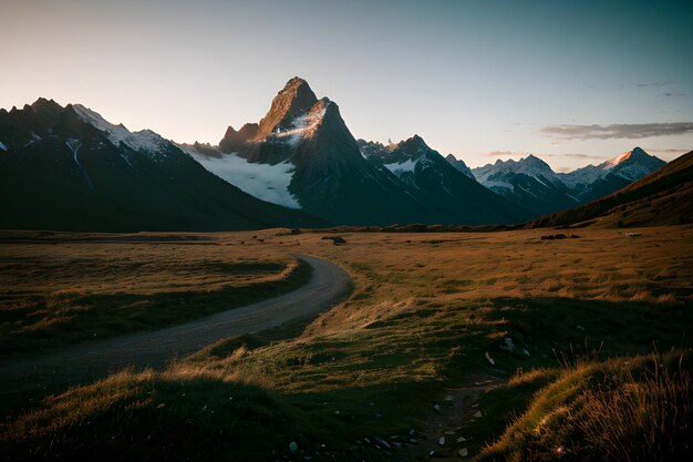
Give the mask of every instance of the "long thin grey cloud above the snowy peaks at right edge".
[[539, 133], [568, 140], [647, 138], [681, 135], [693, 132], [693, 122], [613, 124], [613, 125], [550, 125]]

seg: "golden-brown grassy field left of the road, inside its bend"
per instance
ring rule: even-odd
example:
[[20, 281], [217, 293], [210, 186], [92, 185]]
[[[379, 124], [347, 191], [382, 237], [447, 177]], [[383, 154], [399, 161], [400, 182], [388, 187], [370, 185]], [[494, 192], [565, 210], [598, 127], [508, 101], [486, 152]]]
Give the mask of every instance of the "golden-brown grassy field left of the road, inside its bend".
[[269, 247], [200, 235], [53, 235], [0, 244], [0, 358], [156, 329], [302, 285]]

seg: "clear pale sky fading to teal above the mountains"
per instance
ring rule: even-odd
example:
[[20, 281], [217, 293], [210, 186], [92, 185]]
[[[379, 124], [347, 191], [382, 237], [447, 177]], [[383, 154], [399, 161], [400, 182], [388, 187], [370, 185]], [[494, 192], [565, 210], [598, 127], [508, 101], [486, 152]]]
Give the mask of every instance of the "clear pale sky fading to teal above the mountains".
[[355, 137], [566, 172], [693, 150], [691, 1], [0, 0], [0, 107], [217, 144], [292, 76]]

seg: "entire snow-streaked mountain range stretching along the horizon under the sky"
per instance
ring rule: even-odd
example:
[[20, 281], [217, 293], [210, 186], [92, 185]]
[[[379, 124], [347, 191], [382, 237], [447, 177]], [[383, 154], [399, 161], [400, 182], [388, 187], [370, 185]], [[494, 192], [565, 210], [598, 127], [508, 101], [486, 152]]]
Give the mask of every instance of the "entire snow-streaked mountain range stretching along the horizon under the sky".
[[356, 140], [337, 103], [291, 79], [266, 116], [217, 146], [130, 132], [80, 104], [0, 110], [0, 227], [221, 230], [528, 222], [665, 163], [639, 147], [557, 174], [540, 158], [470, 170], [414, 135]]

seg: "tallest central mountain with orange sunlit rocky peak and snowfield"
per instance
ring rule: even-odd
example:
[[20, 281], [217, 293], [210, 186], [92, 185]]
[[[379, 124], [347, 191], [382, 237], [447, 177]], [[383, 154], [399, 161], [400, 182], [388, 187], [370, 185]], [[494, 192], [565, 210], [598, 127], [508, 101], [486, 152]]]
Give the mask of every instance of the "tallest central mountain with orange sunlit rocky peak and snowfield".
[[[518, 219], [507, 203], [478, 193], [474, 186], [456, 192], [477, 191], [488, 204], [474, 202], [466, 214], [455, 217], [443, 212], [448, 207], [412, 194], [412, 187], [395, 173], [362, 155], [337, 103], [328, 97], [319, 100], [299, 78], [291, 79], [277, 94], [259, 123], [238, 131], [228, 127], [217, 152], [211, 146], [185, 148], [210, 172], [241, 189], [334, 224], [449, 223], [462, 216], [469, 223]], [[448, 164], [446, 167], [454, 171]], [[467, 195], [461, 195], [458, 207], [466, 201]], [[503, 208], [496, 211], [496, 205]]]

